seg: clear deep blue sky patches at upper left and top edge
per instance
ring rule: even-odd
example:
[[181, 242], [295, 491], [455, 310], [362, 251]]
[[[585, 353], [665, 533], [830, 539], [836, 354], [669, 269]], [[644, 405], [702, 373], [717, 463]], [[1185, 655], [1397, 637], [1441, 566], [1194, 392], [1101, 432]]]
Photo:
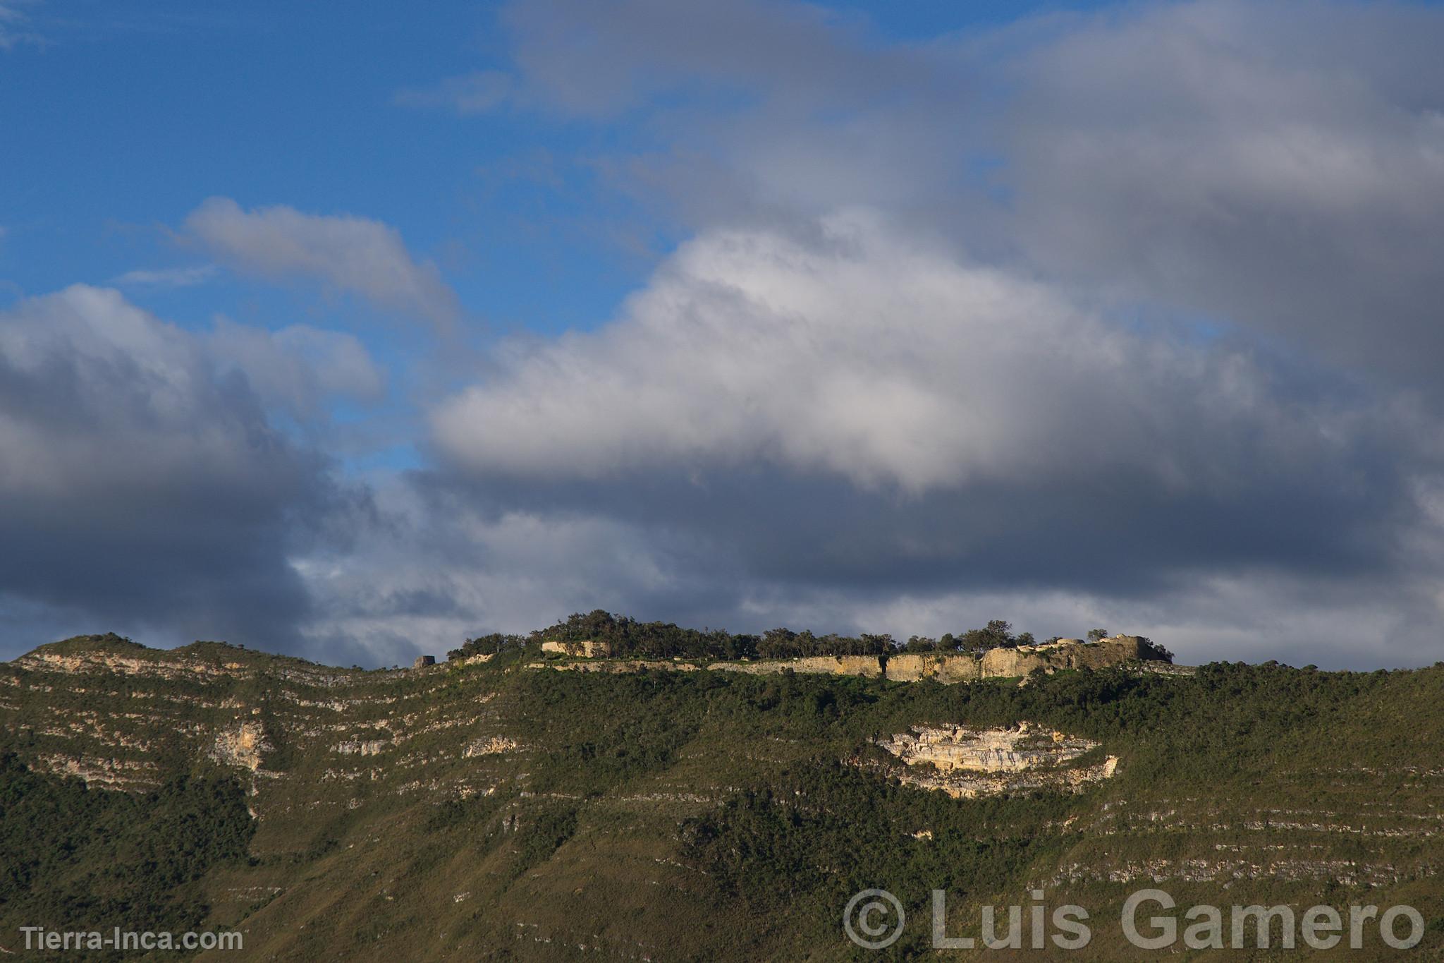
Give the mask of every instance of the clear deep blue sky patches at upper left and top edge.
[[[1090, 4], [852, 3], [879, 42]], [[9, 295], [204, 264], [173, 243], [202, 199], [361, 212], [452, 267], [478, 321], [556, 332], [604, 321], [677, 240], [591, 167], [651, 141], [621, 123], [503, 108], [449, 118], [396, 103], [511, 69], [498, 4], [17, 6], [35, 42], [0, 64]], [[654, 212], [651, 212], [654, 214]], [[16, 287], [19, 290], [16, 290]], [[163, 292], [204, 318], [273, 292]], [[257, 315], [312, 303], [264, 302]], [[235, 312], [235, 308], [227, 310]]]

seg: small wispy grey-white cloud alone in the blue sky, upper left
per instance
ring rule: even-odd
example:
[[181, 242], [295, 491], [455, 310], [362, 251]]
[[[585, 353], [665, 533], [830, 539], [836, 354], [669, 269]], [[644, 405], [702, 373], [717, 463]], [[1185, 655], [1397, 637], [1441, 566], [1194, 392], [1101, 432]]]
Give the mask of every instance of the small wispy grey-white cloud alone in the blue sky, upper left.
[[354, 215], [302, 214], [284, 205], [243, 209], [209, 198], [186, 231], [227, 264], [261, 277], [316, 279], [390, 309], [449, 326], [456, 295], [430, 261], [417, 261], [400, 234]]

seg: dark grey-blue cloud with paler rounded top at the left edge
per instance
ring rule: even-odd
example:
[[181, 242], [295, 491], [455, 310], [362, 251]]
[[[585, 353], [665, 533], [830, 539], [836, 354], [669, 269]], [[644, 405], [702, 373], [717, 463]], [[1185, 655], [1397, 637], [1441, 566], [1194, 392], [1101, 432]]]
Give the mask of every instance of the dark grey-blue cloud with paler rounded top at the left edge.
[[0, 586], [23, 625], [295, 647], [289, 554], [351, 511], [201, 338], [77, 286], [0, 313]]

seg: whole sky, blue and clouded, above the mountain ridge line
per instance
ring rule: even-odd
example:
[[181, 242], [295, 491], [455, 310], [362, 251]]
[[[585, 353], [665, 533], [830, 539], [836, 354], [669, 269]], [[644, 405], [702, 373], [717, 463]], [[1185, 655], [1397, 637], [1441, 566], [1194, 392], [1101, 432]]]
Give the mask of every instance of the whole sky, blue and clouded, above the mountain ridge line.
[[0, 657], [1444, 658], [1444, 7], [0, 0]]

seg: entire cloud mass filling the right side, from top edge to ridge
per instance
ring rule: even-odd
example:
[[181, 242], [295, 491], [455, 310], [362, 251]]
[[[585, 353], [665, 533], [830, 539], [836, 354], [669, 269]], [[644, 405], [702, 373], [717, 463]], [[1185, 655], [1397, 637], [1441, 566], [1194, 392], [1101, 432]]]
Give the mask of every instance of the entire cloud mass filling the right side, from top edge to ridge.
[[521, 98], [706, 91], [609, 167], [695, 237], [601, 331], [508, 344], [438, 406], [443, 474], [682, 533], [749, 625], [1066, 598], [1200, 654], [1432, 651], [1438, 12], [926, 43], [788, 4], [654, 14], [513, 7]]

